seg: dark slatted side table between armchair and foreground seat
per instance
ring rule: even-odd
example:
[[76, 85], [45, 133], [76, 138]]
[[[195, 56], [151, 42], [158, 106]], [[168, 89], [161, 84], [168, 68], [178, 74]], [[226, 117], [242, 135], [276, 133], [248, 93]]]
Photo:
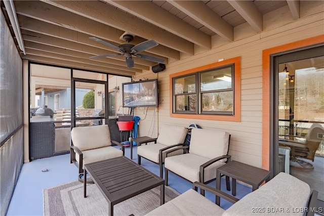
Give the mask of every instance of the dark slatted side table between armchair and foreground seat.
[[[232, 195], [236, 196], [236, 180], [252, 185], [252, 191], [255, 191], [264, 182], [270, 180], [270, 171], [251, 166], [238, 161], [230, 161], [217, 168], [216, 188], [221, 188], [221, 175], [232, 178]], [[220, 197], [216, 196], [216, 204], [220, 205]]]

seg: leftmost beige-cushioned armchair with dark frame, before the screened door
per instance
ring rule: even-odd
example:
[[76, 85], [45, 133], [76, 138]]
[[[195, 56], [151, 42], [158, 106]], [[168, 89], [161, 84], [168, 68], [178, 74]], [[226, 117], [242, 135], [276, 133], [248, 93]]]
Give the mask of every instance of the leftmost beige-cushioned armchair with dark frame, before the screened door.
[[[110, 140], [107, 124], [73, 127], [71, 140], [70, 163], [74, 163], [78, 167], [79, 180], [83, 175], [85, 164], [125, 155], [125, 147]], [[111, 144], [120, 146], [121, 150]]]

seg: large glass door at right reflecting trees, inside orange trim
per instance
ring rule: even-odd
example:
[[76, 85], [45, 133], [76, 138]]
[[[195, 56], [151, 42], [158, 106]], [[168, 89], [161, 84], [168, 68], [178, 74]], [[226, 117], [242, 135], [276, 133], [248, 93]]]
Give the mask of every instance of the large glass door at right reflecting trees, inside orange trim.
[[273, 59], [273, 173], [287, 172], [324, 202], [324, 47]]

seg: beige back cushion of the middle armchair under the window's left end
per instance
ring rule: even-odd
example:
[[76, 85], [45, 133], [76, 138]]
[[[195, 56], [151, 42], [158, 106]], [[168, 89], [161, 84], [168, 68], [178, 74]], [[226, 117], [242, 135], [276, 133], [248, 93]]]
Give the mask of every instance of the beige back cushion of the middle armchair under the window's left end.
[[164, 124], [156, 142], [166, 146], [184, 143], [188, 129], [180, 125]]

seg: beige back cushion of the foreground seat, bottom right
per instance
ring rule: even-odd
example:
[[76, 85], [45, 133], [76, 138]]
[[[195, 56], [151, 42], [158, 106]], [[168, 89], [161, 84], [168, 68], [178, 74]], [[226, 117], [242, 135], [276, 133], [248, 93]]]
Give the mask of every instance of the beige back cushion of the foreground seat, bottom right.
[[[301, 209], [307, 207], [310, 192], [308, 184], [280, 172], [258, 190], [229, 207], [223, 215], [305, 215]], [[252, 209], [260, 209], [262, 213], [253, 212]]]

